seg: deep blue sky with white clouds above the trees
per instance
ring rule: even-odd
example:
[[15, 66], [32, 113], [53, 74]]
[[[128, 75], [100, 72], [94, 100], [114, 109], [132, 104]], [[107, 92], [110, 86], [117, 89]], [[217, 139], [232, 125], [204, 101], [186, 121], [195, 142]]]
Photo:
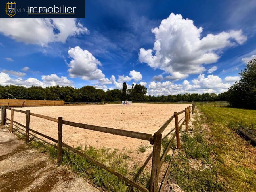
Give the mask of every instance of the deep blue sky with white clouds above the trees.
[[256, 58], [256, 1], [85, 1], [84, 19], [0, 19], [0, 84], [222, 93]]

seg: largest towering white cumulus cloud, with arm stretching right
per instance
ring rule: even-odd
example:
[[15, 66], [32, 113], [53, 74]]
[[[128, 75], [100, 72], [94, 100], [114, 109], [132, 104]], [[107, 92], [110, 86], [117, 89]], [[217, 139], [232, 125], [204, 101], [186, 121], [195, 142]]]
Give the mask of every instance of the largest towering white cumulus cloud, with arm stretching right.
[[192, 20], [171, 13], [159, 27], [152, 29], [156, 39], [154, 47], [140, 48], [139, 61], [154, 69], [162, 69], [171, 74], [171, 79], [177, 80], [202, 73], [205, 71], [202, 64], [215, 63], [219, 59], [217, 50], [247, 40], [241, 30], [207, 34], [203, 38], [202, 31], [203, 28], [197, 28]]

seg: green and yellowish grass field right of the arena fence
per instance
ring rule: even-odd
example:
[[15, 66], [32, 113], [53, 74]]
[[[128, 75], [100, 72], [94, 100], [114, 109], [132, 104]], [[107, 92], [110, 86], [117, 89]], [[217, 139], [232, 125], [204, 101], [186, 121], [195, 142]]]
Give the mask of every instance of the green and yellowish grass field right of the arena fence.
[[184, 191], [256, 191], [256, 148], [236, 132], [255, 130], [256, 110], [197, 106], [193, 134], [182, 136], [170, 182]]

